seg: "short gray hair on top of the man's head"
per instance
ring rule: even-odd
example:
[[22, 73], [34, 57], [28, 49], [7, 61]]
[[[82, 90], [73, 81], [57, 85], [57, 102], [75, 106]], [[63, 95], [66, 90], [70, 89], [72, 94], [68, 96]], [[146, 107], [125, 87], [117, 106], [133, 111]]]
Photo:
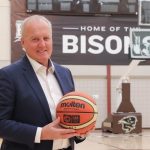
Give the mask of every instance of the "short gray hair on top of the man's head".
[[22, 24], [21, 24], [21, 37], [23, 36], [24, 34], [24, 29], [25, 29], [25, 26], [28, 22], [32, 22], [32, 21], [37, 21], [37, 20], [42, 20], [42, 21], [45, 21], [49, 28], [51, 29], [52, 28], [52, 24], [51, 22], [44, 16], [41, 16], [41, 15], [33, 15], [33, 16], [29, 16], [27, 17], [26, 19], [23, 20]]

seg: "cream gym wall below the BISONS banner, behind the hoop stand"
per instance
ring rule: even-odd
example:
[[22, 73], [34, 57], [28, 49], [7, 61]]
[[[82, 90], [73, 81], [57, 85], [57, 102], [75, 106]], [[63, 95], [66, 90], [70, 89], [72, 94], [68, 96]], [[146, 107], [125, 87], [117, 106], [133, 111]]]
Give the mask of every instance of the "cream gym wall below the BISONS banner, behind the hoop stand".
[[[77, 90], [87, 92], [95, 97], [98, 105], [96, 128], [101, 128], [107, 118], [107, 79], [106, 66], [67, 66], [72, 70]], [[129, 66], [111, 66], [111, 112], [116, 112], [121, 99], [116, 87]], [[130, 100], [136, 112], [142, 113], [142, 127], [150, 128], [150, 67], [137, 66], [131, 69]]]

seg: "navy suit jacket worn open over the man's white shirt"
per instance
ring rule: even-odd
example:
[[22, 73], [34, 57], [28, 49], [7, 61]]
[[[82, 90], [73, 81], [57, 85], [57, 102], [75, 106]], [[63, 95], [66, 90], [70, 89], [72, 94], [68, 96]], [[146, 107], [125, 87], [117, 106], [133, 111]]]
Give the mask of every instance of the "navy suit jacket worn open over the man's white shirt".
[[[63, 94], [74, 91], [69, 69], [54, 63], [55, 77]], [[35, 144], [37, 127], [52, 122], [48, 103], [26, 56], [0, 69], [1, 150], [52, 150], [53, 141]], [[74, 149], [74, 138], [70, 139]]]

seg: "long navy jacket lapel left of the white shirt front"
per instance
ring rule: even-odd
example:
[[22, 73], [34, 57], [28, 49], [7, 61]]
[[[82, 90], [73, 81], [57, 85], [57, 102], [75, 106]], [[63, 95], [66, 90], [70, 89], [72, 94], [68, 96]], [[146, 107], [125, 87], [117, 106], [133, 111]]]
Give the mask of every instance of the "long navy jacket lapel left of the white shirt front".
[[47, 99], [27, 57], [23, 58], [23, 63], [24, 63], [23, 65], [24, 76], [26, 80], [28, 81], [29, 85], [32, 87], [35, 95], [37, 96], [37, 100], [39, 100], [40, 105], [43, 108], [43, 111], [45, 112], [48, 120], [52, 120]]

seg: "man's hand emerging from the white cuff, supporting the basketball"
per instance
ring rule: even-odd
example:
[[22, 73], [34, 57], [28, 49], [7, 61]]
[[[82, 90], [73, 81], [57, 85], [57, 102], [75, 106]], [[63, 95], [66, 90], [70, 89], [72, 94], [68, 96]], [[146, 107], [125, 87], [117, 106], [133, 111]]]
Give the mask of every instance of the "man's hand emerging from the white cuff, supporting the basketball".
[[79, 136], [74, 129], [64, 129], [59, 126], [60, 118], [42, 128], [41, 140], [68, 139]]

